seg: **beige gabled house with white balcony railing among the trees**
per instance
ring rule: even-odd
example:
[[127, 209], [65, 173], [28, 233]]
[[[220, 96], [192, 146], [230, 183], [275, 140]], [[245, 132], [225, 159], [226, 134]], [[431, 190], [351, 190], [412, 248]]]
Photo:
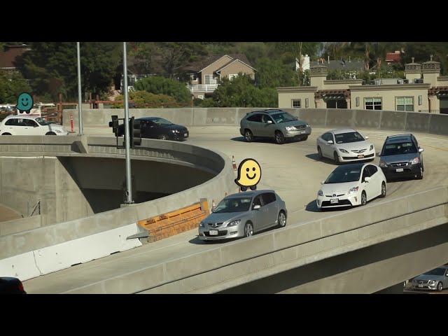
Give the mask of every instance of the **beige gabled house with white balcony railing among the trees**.
[[220, 81], [227, 77], [230, 80], [239, 73], [246, 73], [255, 79], [255, 69], [245, 55], [212, 55], [183, 68], [190, 75], [188, 90], [195, 98], [204, 99], [213, 94]]

